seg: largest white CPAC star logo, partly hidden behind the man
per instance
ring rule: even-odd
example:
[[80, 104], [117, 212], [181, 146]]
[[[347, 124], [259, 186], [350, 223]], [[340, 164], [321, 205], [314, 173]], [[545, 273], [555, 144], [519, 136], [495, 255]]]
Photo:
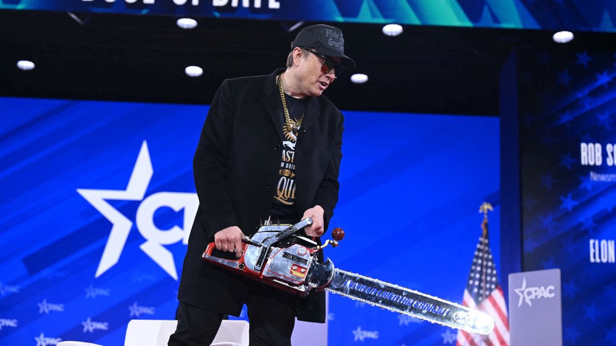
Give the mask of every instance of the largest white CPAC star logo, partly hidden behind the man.
[[[95, 278], [98, 278], [118, 263], [124, 249], [124, 244], [126, 244], [128, 233], [131, 231], [132, 221], [107, 203], [107, 199], [115, 199], [120, 201], [141, 201], [139, 208], [137, 208], [135, 220], [137, 230], [139, 230], [139, 233], [141, 233], [146, 241], [139, 248], [172, 278], [177, 280], [177, 270], [173, 254], [165, 249], [163, 245], [174, 244], [180, 240], [184, 244], [188, 244], [188, 235], [192, 227], [193, 218], [197, 214], [199, 200], [196, 193], [179, 192], [158, 192], [144, 199], [145, 190], [147, 190], [150, 184], [152, 174], [152, 161], [150, 161], [147, 142], [144, 140], [126, 190], [77, 189], [77, 192], [86, 201], [113, 223], [109, 239], [107, 239], [107, 245], [105, 245], [105, 250], [99, 262], [99, 267], [94, 275]], [[184, 209], [184, 228], [174, 226], [170, 230], [158, 229], [154, 225], [153, 215], [161, 207], [169, 207], [176, 212]]]

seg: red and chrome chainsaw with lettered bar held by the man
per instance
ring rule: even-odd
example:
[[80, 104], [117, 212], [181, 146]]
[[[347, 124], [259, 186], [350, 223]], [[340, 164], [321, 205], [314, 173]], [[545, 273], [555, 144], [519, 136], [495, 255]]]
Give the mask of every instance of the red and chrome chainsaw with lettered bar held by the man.
[[422, 292], [403, 288], [367, 276], [334, 267], [330, 259], [319, 263], [317, 254], [326, 246], [338, 246], [344, 238], [342, 228], [331, 232], [334, 240], [323, 245], [298, 231], [312, 224], [309, 217], [300, 222], [272, 224], [269, 220], [257, 227], [256, 233], [242, 239], [243, 253], [237, 260], [212, 255], [216, 244], [209, 243], [203, 259], [253, 280], [270, 284], [306, 297], [312, 291], [329, 291], [362, 303], [402, 313], [421, 320], [488, 334], [494, 321], [486, 313], [449, 302]]

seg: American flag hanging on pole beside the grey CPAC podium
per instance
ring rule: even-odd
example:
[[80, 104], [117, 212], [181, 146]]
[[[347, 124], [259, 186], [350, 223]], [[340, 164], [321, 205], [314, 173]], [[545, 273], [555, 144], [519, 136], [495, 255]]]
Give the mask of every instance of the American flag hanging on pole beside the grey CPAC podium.
[[458, 331], [456, 346], [509, 346], [509, 319], [503, 289], [496, 278], [496, 267], [488, 241], [488, 219], [481, 223], [483, 233], [472, 258], [471, 273], [468, 276], [462, 305], [487, 313], [494, 319], [494, 330], [477, 335]]

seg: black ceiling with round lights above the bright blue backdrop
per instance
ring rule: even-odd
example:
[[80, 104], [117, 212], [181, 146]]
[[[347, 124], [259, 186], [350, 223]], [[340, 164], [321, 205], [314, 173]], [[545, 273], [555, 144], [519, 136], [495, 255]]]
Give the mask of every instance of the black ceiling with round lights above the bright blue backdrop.
[[[224, 78], [282, 67], [299, 29], [267, 20], [0, 10], [0, 95], [62, 99], [209, 103]], [[312, 23], [306, 23], [309, 25]], [[366, 84], [342, 76], [326, 96], [348, 110], [498, 115], [498, 73], [524, 30], [336, 23]], [[303, 26], [300, 26], [302, 28]], [[538, 31], [535, 31], [537, 33]], [[540, 31], [539, 31], [540, 32]], [[549, 40], [549, 36], [548, 36]], [[21, 71], [17, 60], [36, 63]], [[200, 78], [184, 74], [203, 67]]]

